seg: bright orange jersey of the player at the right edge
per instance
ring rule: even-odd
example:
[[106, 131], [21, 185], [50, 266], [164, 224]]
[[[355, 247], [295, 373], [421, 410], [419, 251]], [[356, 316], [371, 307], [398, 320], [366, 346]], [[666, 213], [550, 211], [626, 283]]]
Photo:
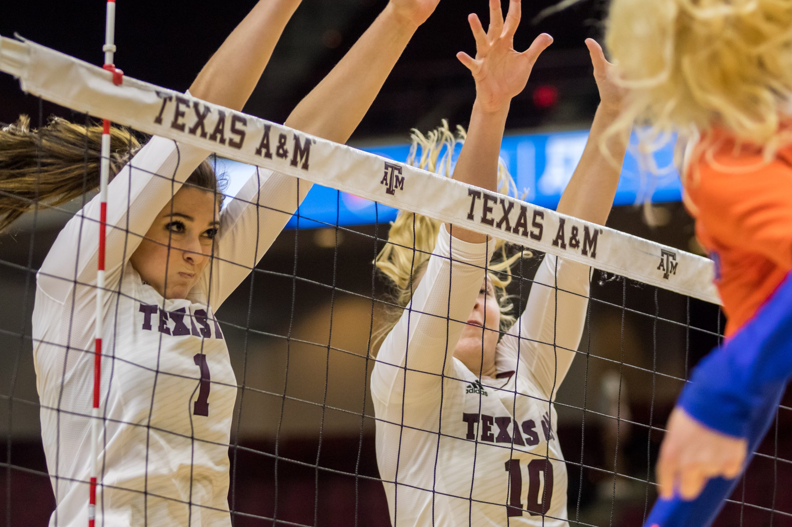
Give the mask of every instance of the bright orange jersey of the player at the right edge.
[[714, 150], [687, 169], [686, 204], [715, 262], [732, 335], [792, 270], [792, 146], [767, 163], [760, 149], [737, 148], [722, 132], [710, 138]]

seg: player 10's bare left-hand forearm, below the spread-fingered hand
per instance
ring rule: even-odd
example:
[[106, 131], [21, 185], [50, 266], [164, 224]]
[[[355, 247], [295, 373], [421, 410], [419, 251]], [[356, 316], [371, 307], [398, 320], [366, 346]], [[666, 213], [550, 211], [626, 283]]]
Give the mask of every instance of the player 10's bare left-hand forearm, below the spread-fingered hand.
[[[454, 179], [490, 191], [497, 191], [497, 163], [511, 100], [497, 110], [488, 112], [478, 99], [470, 114], [470, 126], [459, 159], [454, 169]], [[472, 243], [483, 243], [483, 234], [452, 226], [455, 238]]]

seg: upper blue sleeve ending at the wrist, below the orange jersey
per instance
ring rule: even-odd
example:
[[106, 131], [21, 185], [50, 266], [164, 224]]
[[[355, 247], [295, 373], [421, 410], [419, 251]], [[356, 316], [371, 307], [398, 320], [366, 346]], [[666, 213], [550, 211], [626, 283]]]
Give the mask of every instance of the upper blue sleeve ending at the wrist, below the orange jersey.
[[679, 406], [714, 430], [750, 435], [751, 417], [792, 376], [792, 272], [722, 347], [693, 370]]

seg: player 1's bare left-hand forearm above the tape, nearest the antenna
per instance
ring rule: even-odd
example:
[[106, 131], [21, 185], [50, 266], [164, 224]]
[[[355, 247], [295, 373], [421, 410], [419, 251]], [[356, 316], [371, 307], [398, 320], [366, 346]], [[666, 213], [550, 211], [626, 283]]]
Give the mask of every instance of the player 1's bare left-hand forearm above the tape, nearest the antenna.
[[241, 111], [300, 2], [258, 2], [200, 70], [192, 96]]

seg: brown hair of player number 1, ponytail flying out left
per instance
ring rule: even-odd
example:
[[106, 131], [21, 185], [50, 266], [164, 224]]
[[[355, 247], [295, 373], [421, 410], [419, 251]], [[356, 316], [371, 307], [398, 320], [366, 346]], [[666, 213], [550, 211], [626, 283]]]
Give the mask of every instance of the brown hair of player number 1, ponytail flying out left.
[[[0, 128], [0, 231], [36, 203], [57, 207], [99, 188], [102, 127], [51, 117], [46, 126], [30, 128], [28, 116]], [[140, 148], [128, 128], [110, 128], [110, 178]], [[204, 161], [188, 184], [220, 192], [222, 185]], [[222, 202], [223, 195], [218, 194]]]

